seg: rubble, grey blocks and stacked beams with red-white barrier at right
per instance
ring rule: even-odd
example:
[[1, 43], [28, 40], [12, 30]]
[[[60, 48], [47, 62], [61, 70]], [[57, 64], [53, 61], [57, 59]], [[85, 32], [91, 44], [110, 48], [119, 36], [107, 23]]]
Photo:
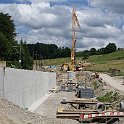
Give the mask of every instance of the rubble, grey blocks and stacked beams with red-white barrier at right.
[[[77, 82], [75, 82], [76, 85], [72, 83], [75, 90], [71, 90], [71, 92], [75, 93], [74, 96], [78, 96], [79, 98], [71, 100], [63, 98], [61, 101], [62, 107], [60, 106], [57, 109], [57, 118], [74, 119], [83, 123], [95, 122], [113, 124], [124, 117], [124, 112], [120, 112], [119, 107], [117, 109], [117, 103], [119, 103], [119, 101], [114, 101], [114, 104], [107, 101], [98, 101], [98, 96], [105, 95], [110, 89], [112, 90], [110, 86], [106, 85], [105, 82], [99, 78], [98, 73], [95, 73], [95, 76], [93, 76], [91, 72], [75, 72], [75, 76], [75, 81]], [[68, 82], [69, 80], [67, 79], [63, 85], [68, 87]], [[112, 97], [112, 99], [114, 98], [115, 97]], [[69, 109], [66, 106], [68, 106]], [[123, 104], [120, 106], [122, 107]]]

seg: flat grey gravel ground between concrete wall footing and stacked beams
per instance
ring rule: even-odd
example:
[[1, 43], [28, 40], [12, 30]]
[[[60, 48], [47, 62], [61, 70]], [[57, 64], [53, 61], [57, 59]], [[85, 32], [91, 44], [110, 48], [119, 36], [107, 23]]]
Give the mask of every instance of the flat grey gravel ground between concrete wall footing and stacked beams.
[[44, 115], [48, 118], [53, 118], [54, 120], [59, 120], [59, 123], [63, 124], [79, 124], [76, 120], [71, 119], [56, 119], [56, 112], [58, 107], [63, 107], [69, 109], [70, 106], [60, 104], [62, 99], [72, 100], [75, 98], [74, 92], [58, 92], [52, 93], [50, 97], [44, 101], [34, 112], [40, 115]]

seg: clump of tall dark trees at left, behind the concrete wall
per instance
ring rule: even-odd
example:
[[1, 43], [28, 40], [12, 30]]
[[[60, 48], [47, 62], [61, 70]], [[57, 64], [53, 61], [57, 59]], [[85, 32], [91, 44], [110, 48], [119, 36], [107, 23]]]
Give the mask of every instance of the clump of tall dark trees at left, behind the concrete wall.
[[[0, 13], [0, 58], [7, 61], [7, 66], [19, 68], [20, 44], [15, 41], [15, 25], [11, 16]], [[33, 59], [30, 57], [26, 42], [21, 41], [21, 67], [32, 69]]]

